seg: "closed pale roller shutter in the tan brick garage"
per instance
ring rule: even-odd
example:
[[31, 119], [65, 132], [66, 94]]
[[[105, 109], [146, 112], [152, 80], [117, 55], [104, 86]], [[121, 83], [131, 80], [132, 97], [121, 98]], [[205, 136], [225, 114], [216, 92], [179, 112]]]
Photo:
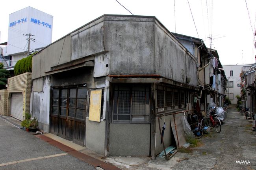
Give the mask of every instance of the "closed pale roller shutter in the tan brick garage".
[[23, 120], [23, 97], [22, 93], [11, 94], [11, 116], [13, 118]]

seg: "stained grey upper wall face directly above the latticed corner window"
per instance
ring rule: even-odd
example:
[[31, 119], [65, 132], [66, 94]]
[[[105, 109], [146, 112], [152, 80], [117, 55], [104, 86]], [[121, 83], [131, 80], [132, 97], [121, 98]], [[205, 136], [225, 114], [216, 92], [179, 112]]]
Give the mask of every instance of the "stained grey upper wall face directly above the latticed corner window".
[[105, 47], [110, 74], [155, 74], [154, 18], [107, 16]]

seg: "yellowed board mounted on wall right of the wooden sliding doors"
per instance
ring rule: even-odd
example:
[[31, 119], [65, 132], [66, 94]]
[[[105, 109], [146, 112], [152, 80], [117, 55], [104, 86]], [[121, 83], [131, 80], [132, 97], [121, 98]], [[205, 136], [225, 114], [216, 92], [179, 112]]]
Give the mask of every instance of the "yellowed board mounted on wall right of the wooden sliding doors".
[[101, 109], [101, 93], [102, 90], [91, 90], [89, 120], [100, 122]]

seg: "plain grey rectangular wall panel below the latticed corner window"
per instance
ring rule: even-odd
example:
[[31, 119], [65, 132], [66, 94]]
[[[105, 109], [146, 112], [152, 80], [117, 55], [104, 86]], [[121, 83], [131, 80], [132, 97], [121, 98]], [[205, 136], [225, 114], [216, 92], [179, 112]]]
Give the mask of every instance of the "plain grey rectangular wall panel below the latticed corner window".
[[110, 156], [148, 156], [150, 124], [110, 123]]

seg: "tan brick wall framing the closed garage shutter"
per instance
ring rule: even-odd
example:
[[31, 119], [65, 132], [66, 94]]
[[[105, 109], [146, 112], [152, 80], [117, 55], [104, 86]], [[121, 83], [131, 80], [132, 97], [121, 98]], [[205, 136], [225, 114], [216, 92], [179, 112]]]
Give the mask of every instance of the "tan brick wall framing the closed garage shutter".
[[[25, 112], [30, 113], [31, 76], [31, 72], [26, 72], [12, 78], [8, 78], [7, 115], [11, 114], [11, 93], [22, 92], [24, 89], [26, 92]], [[22, 81], [24, 84], [21, 83]]]

